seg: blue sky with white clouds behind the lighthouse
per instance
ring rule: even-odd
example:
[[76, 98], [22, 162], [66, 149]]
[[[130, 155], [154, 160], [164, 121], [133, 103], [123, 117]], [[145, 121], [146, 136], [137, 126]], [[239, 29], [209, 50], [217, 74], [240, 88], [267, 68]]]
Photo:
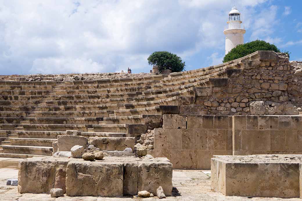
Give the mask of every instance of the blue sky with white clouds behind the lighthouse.
[[154, 51], [186, 70], [220, 64], [234, 2], [245, 42], [302, 61], [301, 0], [0, 0], [0, 74], [149, 72]]

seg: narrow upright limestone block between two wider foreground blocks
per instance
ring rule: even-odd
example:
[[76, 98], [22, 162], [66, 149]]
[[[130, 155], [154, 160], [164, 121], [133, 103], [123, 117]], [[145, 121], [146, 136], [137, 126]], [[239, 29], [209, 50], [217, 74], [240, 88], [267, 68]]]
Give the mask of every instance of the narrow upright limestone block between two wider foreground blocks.
[[124, 163], [124, 195], [137, 195], [137, 174], [138, 163], [137, 162], [125, 162]]

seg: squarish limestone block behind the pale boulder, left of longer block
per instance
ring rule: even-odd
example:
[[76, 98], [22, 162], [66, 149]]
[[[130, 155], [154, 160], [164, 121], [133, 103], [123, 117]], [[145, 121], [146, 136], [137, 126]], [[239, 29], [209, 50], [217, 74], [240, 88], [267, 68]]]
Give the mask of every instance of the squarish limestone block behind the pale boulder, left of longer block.
[[75, 146], [87, 147], [87, 138], [83, 136], [58, 135], [58, 151], [70, 151]]

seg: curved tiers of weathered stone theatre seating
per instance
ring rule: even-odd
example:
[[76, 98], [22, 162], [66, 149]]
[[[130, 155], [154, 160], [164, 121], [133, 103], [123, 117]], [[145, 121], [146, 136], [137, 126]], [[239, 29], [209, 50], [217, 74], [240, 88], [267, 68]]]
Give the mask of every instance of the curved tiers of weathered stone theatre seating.
[[198, 98], [226, 86], [229, 76], [240, 74], [241, 61], [147, 77], [0, 81], [0, 157], [51, 156], [52, 143], [66, 130], [138, 140], [162, 127], [163, 114], [190, 114], [181, 107], [194, 109]]

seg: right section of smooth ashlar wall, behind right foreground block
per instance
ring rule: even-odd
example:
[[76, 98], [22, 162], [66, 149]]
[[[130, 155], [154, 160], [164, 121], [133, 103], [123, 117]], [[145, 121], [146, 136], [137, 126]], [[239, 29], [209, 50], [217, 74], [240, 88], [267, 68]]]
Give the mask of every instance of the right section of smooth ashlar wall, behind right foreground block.
[[233, 116], [233, 155], [301, 153], [302, 116]]

